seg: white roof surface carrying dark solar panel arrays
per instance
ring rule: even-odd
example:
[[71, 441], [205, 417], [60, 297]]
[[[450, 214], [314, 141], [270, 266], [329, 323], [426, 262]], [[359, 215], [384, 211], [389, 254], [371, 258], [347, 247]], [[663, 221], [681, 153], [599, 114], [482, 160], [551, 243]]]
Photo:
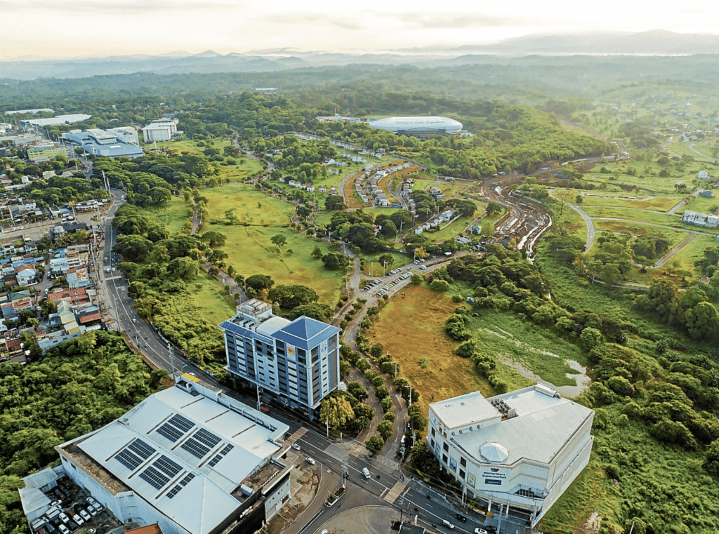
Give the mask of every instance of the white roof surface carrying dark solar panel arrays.
[[[168, 422], [177, 415], [182, 425]], [[264, 420], [276, 423], [279, 433], [286, 431], [286, 425], [266, 416]], [[166, 437], [167, 431], [175, 433], [174, 441]], [[75, 444], [188, 532], [206, 534], [237, 510], [240, 503], [230, 493], [280, 450], [273, 443], [277, 436], [277, 430], [214, 400], [171, 387], [147, 397], [122, 418]], [[145, 458], [136, 454], [141, 443], [137, 440], [150, 451]], [[129, 456], [131, 465], [118, 459], [122, 454]], [[170, 461], [170, 469], [159, 465], [167, 464], [162, 456]], [[159, 482], [156, 479], [153, 484], [148, 471], [158, 470]], [[185, 484], [180, 482], [183, 480]], [[178, 491], [170, 497], [173, 489]]]

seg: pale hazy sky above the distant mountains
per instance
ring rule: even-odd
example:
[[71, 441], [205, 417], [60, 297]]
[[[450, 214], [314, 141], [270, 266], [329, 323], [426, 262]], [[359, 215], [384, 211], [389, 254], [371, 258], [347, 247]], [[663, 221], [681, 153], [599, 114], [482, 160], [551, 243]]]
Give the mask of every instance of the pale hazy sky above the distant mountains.
[[545, 32], [716, 34], [719, 2], [0, 0], [0, 29], [0, 60], [175, 50], [381, 52]]

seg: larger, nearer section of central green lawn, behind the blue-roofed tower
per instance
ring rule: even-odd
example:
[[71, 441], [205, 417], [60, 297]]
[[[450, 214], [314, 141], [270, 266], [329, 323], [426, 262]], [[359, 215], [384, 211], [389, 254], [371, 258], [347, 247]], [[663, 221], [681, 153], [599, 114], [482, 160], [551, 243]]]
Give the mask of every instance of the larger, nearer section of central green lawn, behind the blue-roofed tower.
[[[228, 256], [226, 261], [244, 277], [269, 275], [275, 285], [306, 285], [317, 292], [324, 304], [334, 305], [339, 299], [344, 270], [326, 270], [321, 259], [311, 256], [316, 246], [324, 254], [331, 252], [324, 241], [285, 228], [208, 224], [206, 231], [209, 230], [227, 236], [222, 247]], [[281, 250], [270, 241], [277, 234], [287, 240]]]

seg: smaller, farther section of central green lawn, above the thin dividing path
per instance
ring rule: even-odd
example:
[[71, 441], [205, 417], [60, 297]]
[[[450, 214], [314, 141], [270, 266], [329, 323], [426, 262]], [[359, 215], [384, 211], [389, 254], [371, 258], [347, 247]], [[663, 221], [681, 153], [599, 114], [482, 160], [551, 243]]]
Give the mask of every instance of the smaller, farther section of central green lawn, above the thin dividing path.
[[200, 193], [207, 198], [209, 218], [224, 219], [225, 212], [232, 209], [243, 224], [285, 226], [295, 213], [292, 204], [267, 196], [250, 185], [204, 188]]

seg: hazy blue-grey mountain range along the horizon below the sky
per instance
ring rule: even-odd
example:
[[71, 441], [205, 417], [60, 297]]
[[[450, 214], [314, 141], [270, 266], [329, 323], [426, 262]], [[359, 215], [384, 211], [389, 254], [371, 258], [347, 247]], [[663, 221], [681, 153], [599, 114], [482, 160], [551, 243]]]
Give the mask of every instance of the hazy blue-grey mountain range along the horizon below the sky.
[[206, 50], [168, 52], [160, 55], [119, 55], [91, 59], [47, 60], [32, 56], [0, 62], [4, 78], [86, 78], [93, 75], [156, 73], [265, 73], [327, 65], [411, 64], [421, 67], [488, 63], [490, 57], [526, 55], [693, 55], [719, 54], [719, 35], [650, 32], [527, 35], [485, 45], [421, 47], [376, 54], [257, 50], [220, 54]]

